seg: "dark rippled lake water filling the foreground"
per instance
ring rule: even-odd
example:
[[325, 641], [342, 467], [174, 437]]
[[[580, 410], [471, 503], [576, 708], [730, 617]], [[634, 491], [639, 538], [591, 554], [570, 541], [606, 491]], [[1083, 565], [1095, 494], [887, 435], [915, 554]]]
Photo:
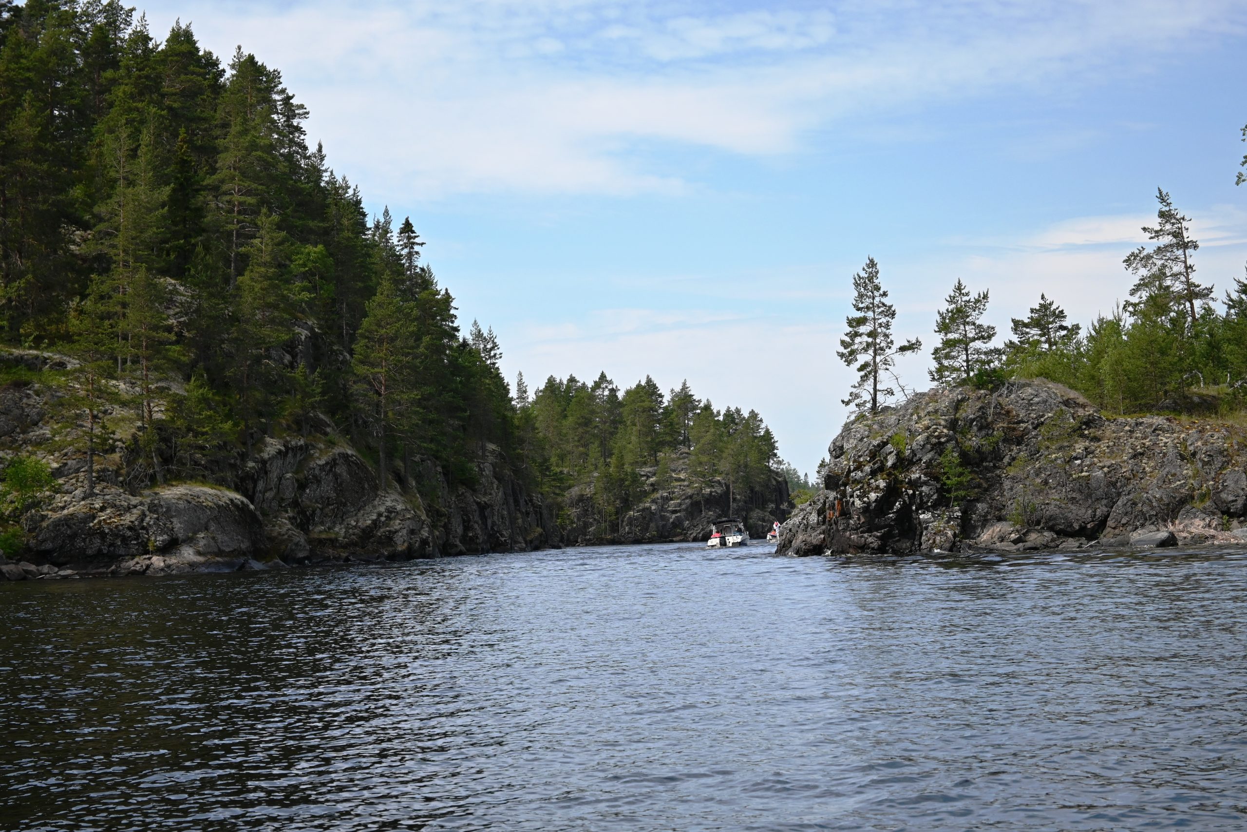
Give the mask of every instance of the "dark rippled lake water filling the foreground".
[[0, 827], [1242, 830], [1247, 555], [0, 586]]

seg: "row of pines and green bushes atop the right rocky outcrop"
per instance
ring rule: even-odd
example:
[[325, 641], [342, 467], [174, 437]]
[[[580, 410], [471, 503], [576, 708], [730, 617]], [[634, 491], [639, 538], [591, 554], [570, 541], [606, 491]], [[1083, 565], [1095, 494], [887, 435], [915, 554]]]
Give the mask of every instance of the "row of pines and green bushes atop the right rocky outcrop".
[[[1245, 128], [1247, 135], [1247, 128]], [[1247, 160], [1245, 160], [1247, 165]], [[1240, 182], [1242, 177], [1240, 177]], [[1047, 378], [1066, 384], [1116, 413], [1240, 409], [1247, 403], [1247, 281], [1220, 302], [1213, 286], [1196, 278], [1198, 241], [1190, 218], [1162, 190], [1151, 241], [1124, 261], [1134, 276], [1129, 299], [1085, 329], [1040, 294], [1026, 318], [1013, 318], [1013, 338], [996, 343], [983, 323], [986, 291], [971, 293], [958, 281], [936, 317], [930, 379], [938, 384], [991, 387], [1009, 378]], [[854, 276], [854, 312], [847, 319], [840, 358], [858, 372], [844, 404], [877, 412], [899, 387], [895, 358], [922, 348], [895, 348], [895, 308], [872, 258]], [[903, 388], [902, 388], [903, 389]]]

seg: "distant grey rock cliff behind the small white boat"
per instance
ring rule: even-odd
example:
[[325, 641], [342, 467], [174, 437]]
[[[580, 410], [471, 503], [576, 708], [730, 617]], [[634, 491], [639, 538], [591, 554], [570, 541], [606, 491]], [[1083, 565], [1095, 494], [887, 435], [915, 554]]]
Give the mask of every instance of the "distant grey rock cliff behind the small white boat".
[[700, 481], [692, 476], [683, 449], [672, 455], [662, 479], [657, 468], [642, 468], [640, 474], [650, 496], [622, 516], [602, 510], [595, 499], [596, 483], [571, 489], [559, 518], [567, 545], [706, 540], [711, 524], [729, 515], [744, 520], [752, 538], [766, 538], [792, 506], [788, 481], [778, 473], [743, 494], [733, 493], [722, 478]]

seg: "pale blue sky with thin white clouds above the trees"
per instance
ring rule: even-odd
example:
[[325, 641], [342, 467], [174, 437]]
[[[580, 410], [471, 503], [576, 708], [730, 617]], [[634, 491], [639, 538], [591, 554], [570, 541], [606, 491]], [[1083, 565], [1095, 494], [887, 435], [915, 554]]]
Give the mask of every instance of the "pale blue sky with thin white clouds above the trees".
[[[960, 277], [1006, 334], [1129, 291], [1157, 186], [1202, 278], [1247, 258], [1247, 4], [148, 2], [281, 69], [370, 210], [410, 215], [504, 370], [756, 408], [813, 470], [850, 277], [928, 346]], [[927, 359], [900, 365], [927, 387]]]

